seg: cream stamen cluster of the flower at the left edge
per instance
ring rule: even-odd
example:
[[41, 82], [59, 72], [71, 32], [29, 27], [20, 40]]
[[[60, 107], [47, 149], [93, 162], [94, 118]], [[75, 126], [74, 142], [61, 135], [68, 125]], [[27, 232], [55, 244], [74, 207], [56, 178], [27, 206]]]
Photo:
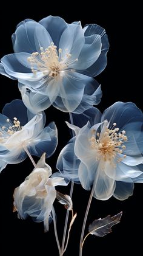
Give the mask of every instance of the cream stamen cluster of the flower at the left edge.
[[0, 143], [7, 141], [12, 134], [16, 133], [16, 131], [22, 130], [21, 123], [16, 117], [13, 118], [13, 123], [10, 119], [7, 119], [7, 123], [9, 126], [0, 127]]

